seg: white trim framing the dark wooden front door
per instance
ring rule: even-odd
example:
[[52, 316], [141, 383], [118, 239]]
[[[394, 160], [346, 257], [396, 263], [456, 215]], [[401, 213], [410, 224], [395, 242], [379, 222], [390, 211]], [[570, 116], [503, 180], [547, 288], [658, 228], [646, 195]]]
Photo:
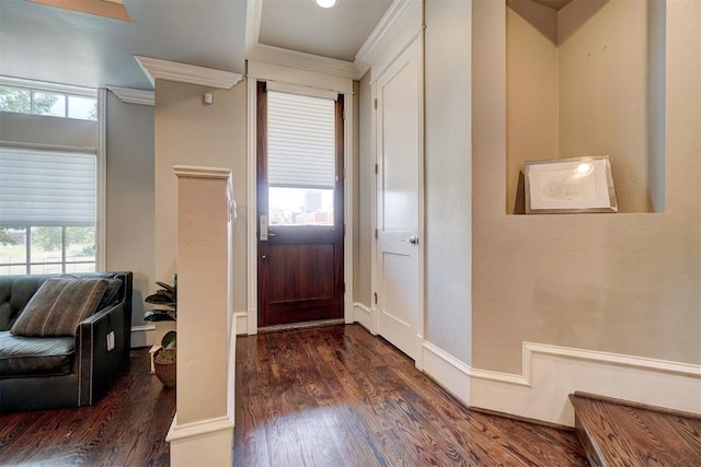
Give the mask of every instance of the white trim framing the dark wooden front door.
[[[285, 79], [285, 75], [271, 75], [266, 79], [277, 79], [278, 81], [289, 82]], [[248, 206], [246, 206], [246, 224], [248, 224], [248, 318], [246, 318], [246, 334], [255, 335], [258, 328], [258, 284], [257, 284], [257, 171], [256, 171], [256, 112], [257, 112], [257, 93], [256, 86], [258, 79], [248, 77]], [[263, 81], [263, 78], [261, 78]], [[355, 100], [353, 93], [353, 80], [348, 79], [349, 92], [342, 92], [344, 95], [344, 223], [345, 235], [343, 238], [344, 248], [344, 282], [346, 290], [343, 297], [344, 303], [344, 320], [347, 324], [354, 323], [354, 307], [353, 307], [353, 180], [355, 174], [353, 172], [353, 157], [354, 157], [354, 107]], [[304, 84], [304, 83], [298, 83]]]

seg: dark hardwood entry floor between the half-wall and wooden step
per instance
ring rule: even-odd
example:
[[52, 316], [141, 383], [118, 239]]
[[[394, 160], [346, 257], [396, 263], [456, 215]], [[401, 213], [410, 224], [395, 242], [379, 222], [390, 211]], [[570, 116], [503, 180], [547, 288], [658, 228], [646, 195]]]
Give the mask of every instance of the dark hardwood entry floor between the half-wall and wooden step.
[[464, 408], [357, 325], [239, 337], [234, 466], [585, 466], [572, 430]]

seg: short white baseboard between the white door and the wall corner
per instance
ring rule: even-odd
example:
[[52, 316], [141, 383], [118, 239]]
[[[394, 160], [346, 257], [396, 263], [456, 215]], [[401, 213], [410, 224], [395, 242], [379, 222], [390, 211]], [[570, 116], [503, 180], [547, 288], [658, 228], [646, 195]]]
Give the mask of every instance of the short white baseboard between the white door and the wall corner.
[[470, 405], [469, 365], [428, 341], [422, 346], [422, 363], [424, 373], [464, 405]]

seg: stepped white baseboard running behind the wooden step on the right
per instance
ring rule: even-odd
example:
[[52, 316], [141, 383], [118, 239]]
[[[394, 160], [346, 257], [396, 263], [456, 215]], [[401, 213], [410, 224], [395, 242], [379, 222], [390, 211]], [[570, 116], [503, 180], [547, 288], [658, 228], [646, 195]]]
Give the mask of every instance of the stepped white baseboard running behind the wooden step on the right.
[[582, 390], [701, 413], [701, 365], [524, 342], [522, 371], [472, 369], [470, 405], [573, 427]]

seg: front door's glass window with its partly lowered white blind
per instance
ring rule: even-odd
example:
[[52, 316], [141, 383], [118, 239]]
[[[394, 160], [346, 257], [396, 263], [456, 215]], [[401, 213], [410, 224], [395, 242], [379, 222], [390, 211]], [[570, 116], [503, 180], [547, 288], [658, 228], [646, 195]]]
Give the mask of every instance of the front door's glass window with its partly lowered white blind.
[[267, 92], [267, 185], [271, 225], [332, 225], [335, 102]]

